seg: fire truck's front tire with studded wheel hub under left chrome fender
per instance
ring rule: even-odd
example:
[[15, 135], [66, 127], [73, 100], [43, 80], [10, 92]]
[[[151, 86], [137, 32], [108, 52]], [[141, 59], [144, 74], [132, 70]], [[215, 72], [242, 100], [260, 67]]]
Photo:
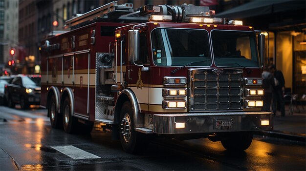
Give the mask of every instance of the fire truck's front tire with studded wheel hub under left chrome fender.
[[141, 135], [134, 128], [134, 118], [130, 101], [123, 103], [119, 121], [119, 136], [123, 150], [128, 153], [138, 152], [141, 144]]

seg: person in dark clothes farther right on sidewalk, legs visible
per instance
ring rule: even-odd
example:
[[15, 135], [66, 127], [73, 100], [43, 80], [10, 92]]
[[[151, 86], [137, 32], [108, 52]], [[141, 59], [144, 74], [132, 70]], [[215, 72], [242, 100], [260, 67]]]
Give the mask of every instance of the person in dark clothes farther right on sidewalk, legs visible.
[[275, 65], [269, 66], [270, 72], [273, 74], [275, 80], [275, 86], [273, 90], [273, 103], [272, 110], [274, 115], [276, 114], [277, 104], [281, 108], [281, 115], [285, 115], [285, 104], [284, 104], [284, 95], [283, 92], [285, 90], [285, 79], [284, 75], [281, 71], [277, 70]]

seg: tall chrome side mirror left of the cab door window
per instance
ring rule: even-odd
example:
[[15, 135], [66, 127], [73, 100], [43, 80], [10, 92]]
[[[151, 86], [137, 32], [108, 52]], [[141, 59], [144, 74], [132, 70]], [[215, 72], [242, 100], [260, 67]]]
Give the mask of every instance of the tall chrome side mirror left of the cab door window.
[[129, 61], [139, 59], [139, 30], [129, 30]]

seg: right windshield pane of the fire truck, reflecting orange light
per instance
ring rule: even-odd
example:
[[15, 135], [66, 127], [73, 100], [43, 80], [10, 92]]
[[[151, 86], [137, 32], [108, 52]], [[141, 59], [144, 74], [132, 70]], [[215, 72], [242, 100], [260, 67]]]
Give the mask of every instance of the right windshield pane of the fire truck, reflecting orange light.
[[214, 30], [211, 37], [217, 66], [260, 67], [255, 33]]

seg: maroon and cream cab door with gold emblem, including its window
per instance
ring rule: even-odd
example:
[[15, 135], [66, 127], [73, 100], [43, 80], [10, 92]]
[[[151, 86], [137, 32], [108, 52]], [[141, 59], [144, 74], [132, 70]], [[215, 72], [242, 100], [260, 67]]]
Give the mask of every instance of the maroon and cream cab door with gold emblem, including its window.
[[[149, 111], [149, 76], [150, 70], [144, 71], [150, 65], [149, 60], [149, 35], [146, 29], [139, 30], [139, 58], [128, 62], [127, 66], [127, 82], [128, 87], [135, 94], [138, 107], [141, 113]], [[130, 42], [131, 43], [131, 42]]]

